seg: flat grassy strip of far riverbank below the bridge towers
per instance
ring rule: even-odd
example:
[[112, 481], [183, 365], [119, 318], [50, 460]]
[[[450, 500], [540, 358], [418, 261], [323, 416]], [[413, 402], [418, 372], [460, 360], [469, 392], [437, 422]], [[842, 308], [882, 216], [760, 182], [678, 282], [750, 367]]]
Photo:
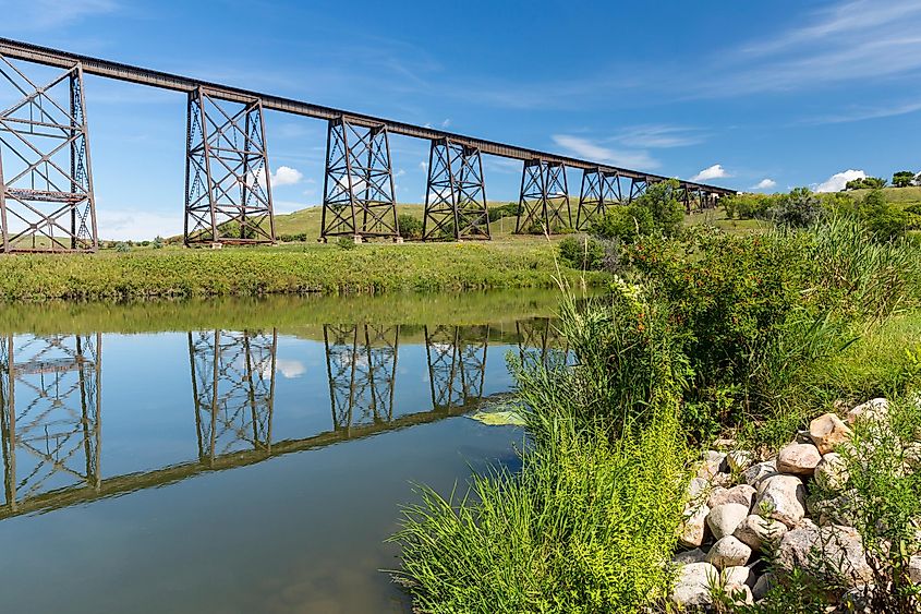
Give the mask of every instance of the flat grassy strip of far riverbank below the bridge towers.
[[[554, 246], [492, 243], [336, 244], [218, 251], [144, 249], [81, 256], [0, 257], [0, 300], [131, 299], [540, 288], [554, 284]], [[575, 272], [562, 269], [575, 279]], [[590, 278], [590, 281], [599, 276]]]

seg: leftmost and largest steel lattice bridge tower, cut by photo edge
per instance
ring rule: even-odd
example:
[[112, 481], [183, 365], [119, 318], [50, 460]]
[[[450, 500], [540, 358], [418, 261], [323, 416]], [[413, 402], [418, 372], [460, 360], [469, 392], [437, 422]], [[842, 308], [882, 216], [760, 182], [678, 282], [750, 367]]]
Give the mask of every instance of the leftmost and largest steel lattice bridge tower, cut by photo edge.
[[38, 85], [0, 56], [0, 252], [95, 252], [82, 64]]

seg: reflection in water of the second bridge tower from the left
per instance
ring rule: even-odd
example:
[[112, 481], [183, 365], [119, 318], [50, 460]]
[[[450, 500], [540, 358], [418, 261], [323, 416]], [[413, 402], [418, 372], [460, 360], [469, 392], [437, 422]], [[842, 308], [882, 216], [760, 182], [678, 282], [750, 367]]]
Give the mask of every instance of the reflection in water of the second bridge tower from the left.
[[271, 453], [278, 333], [189, 333], [198, 459]]

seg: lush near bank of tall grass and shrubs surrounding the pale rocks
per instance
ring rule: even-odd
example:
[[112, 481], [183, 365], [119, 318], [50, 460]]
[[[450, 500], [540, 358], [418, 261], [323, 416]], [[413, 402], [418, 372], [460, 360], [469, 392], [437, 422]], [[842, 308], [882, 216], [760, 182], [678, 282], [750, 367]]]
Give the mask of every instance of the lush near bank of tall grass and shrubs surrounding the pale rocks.
[[[522, 470], [474, 477], [469, 496], [423, 490], [407, 508], [396, 577], [420, 611], [672, 611], [667, 562], [701, 447], [728, 437], [766, 458], [819, 414], [921, 388], [921, 249], [874, 229], [829, 215], [620, 244], [606, 258], [621, 279], [613, 296], [563, 310], [575, 366], [518, 368], [531, 440]], [[909, 551], [873, 550], [873, 531], [911, 527], [921, 501], [867, 473], [853, 471], [877, 484], [863, 503], [875, 522], [857, 529], [887, 557], [872, 589], [886, 591]], [[718, 611], [831, 611], [824, 585], [793, 580], [761, 604]]]

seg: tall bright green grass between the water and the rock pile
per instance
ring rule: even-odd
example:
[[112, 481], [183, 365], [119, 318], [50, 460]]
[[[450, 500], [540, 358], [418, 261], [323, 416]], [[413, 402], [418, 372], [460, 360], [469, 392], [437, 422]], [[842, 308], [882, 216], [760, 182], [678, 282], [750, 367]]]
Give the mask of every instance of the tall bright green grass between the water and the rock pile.
[[[569, 303], [574, 369], [518, 369], [531, 435], [521, 471], [475, 475], [460, 497], [422, 489], [405, 509], [396, 576], [420, 611], [626, 613], [665, 597], [687, 455], [671, 360], [656, 356], [664, 332], [638, 327], [639, 313]], [[629, 395], [596, 377], [613, 356], [635, 359], [620, 359]]]

